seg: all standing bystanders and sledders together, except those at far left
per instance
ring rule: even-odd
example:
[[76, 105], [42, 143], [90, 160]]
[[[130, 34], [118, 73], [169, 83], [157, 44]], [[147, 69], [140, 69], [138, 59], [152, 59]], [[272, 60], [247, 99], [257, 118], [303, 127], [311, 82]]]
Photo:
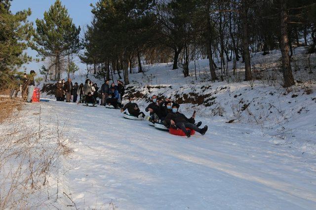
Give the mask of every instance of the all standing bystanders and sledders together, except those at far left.
[[[120, 112], [127, 110], [131, 116], [137, 118], [145, 117], [145, 114], [140, 111], [132, 96], [129, 96], [129, 102], [122, 106], [121, 101], [125, 89], [120, 80], [118, 80], [117, 85], [115, 85], [115, 83], [109, 84], [110, 81], [106, 80], [100, 88], [101, 105], [120, 108]], [[93, 104], [93, 106], [99, 103], [97, 100], [99, 97], [99, 87], [90, 79], [86, 79], [84, 84], [78, 86], [78, 83], [75, 83], [73, 86], [69, 78], [67, 82], [65, 82], [65, 80], [59, 81], [55, 87], [57, 101], [64, 101], [66, 99], [66, 102], [71, 102], [73, 98], [73, 102], [77, 102], [79, 96], [78, 103], [85, 103], [86, 105]], [[153, 95], [151, 103], [146, 107], [145, 111], [149, 112], [149, 120], [152, 123], [161, 123], [166, 128], [181, 129], [188, 138], [191, 136], [191, 130], [187, 130], [187, 128], [204, 135], [207, 131], [207, 125], [203, 128], [199, 128], [202, 122], [195, 122], [196, 112], [193, 113], [191, 118], [187, 118], [184, 114], [179, 112], [179, 107], [180, 105], [178, 103], [170, 99], [158, 99], [157, 95]]]

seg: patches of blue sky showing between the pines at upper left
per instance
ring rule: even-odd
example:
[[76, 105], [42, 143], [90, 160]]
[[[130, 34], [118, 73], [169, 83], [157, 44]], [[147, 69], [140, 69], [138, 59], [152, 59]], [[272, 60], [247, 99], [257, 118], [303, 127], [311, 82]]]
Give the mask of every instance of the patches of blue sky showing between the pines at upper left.
[[[86, 29], [86, 25], [90, 24], [92, 20], [92, 13], [90, 3], [95, 4], [98, 0], [61, 0], [62, 4], [66, 6], [68, 9], [68, 13], [70, 17], [73, 19], [73, 22], [76, 26], [80, 26], [81, 28], [81, 37], [83, 35], [84, 30]], [[11, 2], [11, 11], [13, 13], [31, 8], [32, 15], [29, 17], [30, 21], [34, 22], [37, 18], [42, 19], [44, 11], [47, 11], [51, 4], [53, 4], [55, 0], [13, 0]], [[35, 25], [36, 26], [36, 25]], [[27, 51], [29, 55], [33, 58], [36, 57], [37, 52], [33, 50]], [[77, 60], [77, 64], [79, 64], [79, 68], [84, 68], [84, 65], [79, 63]], [[24, 66], [27, 68], [27, 72], [30, 70], [40, 69], [42, 63], [32, 62], [29, 64], [25, 64]]]

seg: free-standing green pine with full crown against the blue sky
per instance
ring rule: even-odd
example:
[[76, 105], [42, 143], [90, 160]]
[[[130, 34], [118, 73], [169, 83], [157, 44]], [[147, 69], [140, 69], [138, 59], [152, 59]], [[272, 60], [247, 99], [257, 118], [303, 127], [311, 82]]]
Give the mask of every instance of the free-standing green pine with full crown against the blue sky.
[[55, 79], [61, 76], [61, 58], [70, 54], [78, 53], [81, 49], [79, 42], [80, 27], [73, 24], [68, 15], [68, 10], [56, 0], [44, 12], [44, 19], [36, 20], [37, 30], [34, 36], [36, 45], [33, 46], [43, 58], [54, 57]]

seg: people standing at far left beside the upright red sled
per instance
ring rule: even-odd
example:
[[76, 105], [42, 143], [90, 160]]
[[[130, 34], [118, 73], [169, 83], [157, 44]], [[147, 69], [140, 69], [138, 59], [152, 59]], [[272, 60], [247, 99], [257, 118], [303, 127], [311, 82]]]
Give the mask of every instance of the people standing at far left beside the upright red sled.
[[35, 89], [35, 76], [35, 71], [31, 70], [30, 74], [24, 73], [22, 78], [17, 75], [16, 78], [12, 79], [12, 81], [18, 82], [12, 84], [13, 87], [10, 91], [10, 97], [17, 97], [18, 92], [21, 91], [22, 99], [26, 102], [32, 102], [33, 91]]

